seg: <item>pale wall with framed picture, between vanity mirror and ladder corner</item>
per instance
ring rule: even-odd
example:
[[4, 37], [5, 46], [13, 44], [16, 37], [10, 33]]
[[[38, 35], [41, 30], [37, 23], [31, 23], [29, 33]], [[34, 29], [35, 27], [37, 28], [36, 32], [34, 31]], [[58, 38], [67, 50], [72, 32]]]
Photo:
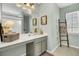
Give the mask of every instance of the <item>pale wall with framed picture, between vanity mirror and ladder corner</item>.
[[[58, 27], [57, 20], [59, 18], [59, 8], [54, 3], [44, 3], [40, 4], [37, 9], [38, 12], [35, 13], [38, 18], [39, 27], [48, 33], [48, 50], [53, 50], [58, 44]], [[40, 25], [41, 16], [47, 15], [48, 24]], [[31, 27], [32, 28], [32, 27]]]

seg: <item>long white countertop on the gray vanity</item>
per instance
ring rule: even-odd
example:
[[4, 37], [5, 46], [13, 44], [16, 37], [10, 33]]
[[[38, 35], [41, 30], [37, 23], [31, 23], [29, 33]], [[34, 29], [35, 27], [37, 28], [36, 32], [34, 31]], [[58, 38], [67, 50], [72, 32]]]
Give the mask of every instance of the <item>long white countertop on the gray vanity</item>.
[[15, 40], [15, 41], [12, 41], [12, 42], [0, 42], [0, 48], [15, 45], [15, 44], [18, 44], [18, 43], [28, 42], [28, 41], [34, 40], [36, 38], [44, 37], [44, 36], [47, 36], [47, 34], [31, 35], [31, 36], [29, 36], [29, 34], [20, 34], [19, 39]]

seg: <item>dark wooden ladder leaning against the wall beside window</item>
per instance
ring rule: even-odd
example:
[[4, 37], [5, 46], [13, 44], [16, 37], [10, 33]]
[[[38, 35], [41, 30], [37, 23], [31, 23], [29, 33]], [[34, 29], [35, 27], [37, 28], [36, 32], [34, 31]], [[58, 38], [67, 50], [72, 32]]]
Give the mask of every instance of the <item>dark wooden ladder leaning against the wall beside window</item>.
[[[69, 39], [68, 39], [66, 19], [65, 19], [64, 22], [61, 22], [60, 19], [59, 19], [58, 23], [59, 23], [60, 47], [62, 47], [62, 41], [65, 41], [67, 43], [67, 46], [69, 47]], [[66, 39], [62, 39], [63, 37], [66, 37]]]

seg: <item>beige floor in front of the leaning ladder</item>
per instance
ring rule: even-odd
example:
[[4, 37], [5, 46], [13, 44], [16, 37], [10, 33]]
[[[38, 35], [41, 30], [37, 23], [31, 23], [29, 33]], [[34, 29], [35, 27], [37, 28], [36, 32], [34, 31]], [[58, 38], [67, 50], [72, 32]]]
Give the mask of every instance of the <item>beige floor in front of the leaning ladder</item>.
[[58, 47], [52, 54], [54, 56], [79, 56], [79, 49], [63, 46]]

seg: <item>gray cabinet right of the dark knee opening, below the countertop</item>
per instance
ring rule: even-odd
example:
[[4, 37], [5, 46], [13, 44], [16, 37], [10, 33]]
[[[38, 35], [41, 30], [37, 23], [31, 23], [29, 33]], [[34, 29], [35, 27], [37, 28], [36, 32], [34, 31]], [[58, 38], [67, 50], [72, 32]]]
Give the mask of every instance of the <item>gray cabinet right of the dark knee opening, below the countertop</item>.
[[47, 37], [42, 37], [35, 40], [34, 55], [38, 56], [47, 50]]

